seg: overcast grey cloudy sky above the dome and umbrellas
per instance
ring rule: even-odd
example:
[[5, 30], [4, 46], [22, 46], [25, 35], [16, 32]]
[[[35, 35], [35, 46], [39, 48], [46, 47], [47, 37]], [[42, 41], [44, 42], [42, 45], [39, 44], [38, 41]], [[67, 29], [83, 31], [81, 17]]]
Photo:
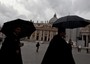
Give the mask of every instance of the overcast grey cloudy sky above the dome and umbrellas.
[[62, 17], [77, 14], [90, 19], [89, 0], [0, 0], [0, 23], [23, 18], [48, 21], [54, 14]]

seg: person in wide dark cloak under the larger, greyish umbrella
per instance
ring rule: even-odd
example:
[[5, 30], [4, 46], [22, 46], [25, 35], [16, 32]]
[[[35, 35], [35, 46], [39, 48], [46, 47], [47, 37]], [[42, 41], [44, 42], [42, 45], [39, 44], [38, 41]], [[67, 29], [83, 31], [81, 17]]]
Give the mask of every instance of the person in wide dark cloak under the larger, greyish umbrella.
[[65, 41], [65, 28], [58, 28], [45, 52], [41, 64], [75, 64], [71, 49]]

